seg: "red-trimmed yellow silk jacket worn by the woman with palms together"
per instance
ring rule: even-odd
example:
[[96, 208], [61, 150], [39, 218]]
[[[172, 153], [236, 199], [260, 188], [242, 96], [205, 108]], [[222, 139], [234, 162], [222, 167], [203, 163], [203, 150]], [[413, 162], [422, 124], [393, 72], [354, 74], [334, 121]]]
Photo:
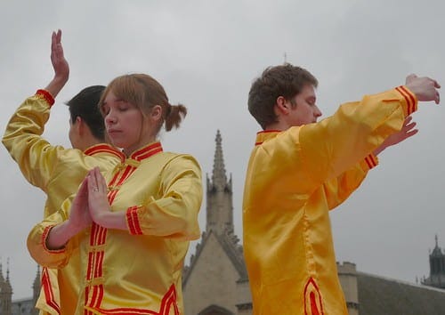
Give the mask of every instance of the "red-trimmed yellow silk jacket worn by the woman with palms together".
[[79, 253], [80, 289], [69, 314], [182, 314], [182, 264], [189, 240], [199, 238], [198, 162], [163, 152], [155, 142], [135, 151], [105, 178], [111, 211], [125, 211], [128, 231], [93, 223], [64, 249], [48, 250], [47, 233], [67, 219], [68, 199], [60, 212], [31, 230], [29, 253], [53, 268], [63, 268]]

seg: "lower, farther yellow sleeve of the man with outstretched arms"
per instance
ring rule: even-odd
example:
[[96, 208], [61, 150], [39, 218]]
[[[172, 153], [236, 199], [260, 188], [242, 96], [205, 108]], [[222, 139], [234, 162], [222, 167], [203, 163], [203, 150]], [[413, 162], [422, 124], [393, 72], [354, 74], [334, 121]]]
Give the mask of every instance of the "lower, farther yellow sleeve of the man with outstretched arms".
[[343, 174], [328, 180], [323, 184], [323, 190], [328, 202], [329, 210], [341, 205], [344, 200], [357, 190], [365, 179], [368, 171], [378, 165], [378, 158], [369, 154], [359, 164], [353, 166]]

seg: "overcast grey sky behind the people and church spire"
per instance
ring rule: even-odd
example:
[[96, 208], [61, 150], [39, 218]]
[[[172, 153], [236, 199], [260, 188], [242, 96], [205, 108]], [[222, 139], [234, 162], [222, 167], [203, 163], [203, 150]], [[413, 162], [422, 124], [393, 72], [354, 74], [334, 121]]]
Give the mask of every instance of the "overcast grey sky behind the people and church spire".
[[[247, 111], [252, 80], [282, 63], [286, 52], [287, 61], [318, 77], [324, 116], [344, 101], [402, 85], [409, 73], [445, 85], [444, 9], [439, 0], [2, 1], [0, 127], [3, 132], [20, 102], [53, 77], [51, 33], [61, 28], [70, 78], [44, 137], [69, 147], [63, 102], [86, 85], [107, 85], [131, 72], [156, 77], [170, 101], [189, 109], [179, 130], [161, 134], [166, 150], [193, 154], [204, 174], [211, 173], [221, 130], [241, 237], [244, 175], [259, 131]], [[419, 108], [419, 133], [384, 151], [380, 166], [331, 213], [338, 261], [410, 282], [428, 275], [435, 234], [445, 247], [445, 109], [433, 102]], [[10, 261], [13, 299], [19, 299], [32, 295], [36, 263], [26, 238], [41, 220], [44, 195], [22, 178], [4, 148], [0, 158], [0, 254], [4, 271]], [[203, 228], [204, 214], [203, 207]]]

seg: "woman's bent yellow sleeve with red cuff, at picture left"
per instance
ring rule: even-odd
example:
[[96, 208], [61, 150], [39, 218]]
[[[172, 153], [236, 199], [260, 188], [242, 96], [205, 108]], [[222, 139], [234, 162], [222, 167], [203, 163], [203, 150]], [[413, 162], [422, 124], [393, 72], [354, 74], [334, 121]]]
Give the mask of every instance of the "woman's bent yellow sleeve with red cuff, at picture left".
[[46, 247], [46, 238], [48, 238], [50, 230], [53, 229], [55, 225], [68, 219], [71, 200], [72, 198], [65, 200], [61, 206], [61, 210], [46, 217], [44, 221], [37, 223], [28, 234], [28, 252], [36, 263], [41, 266], [53, 269], [63, 268], [69, 263], [69, 258], [78, 245], [77, 239], [74, 237], [69, 240], [64, 248], [52, 250]]

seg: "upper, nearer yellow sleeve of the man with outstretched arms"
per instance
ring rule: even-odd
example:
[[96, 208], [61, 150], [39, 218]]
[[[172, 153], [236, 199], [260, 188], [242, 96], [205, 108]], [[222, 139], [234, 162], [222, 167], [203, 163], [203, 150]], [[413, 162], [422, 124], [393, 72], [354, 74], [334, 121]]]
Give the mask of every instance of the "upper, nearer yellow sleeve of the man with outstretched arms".
[[298, 134], [303, 171], [311, 170], [308, 176], [313, 182], [343, 173], [400, 131], [415, 110], [415, 95], [401, 86], [346, 103], [319, 124], [304, 125]]

